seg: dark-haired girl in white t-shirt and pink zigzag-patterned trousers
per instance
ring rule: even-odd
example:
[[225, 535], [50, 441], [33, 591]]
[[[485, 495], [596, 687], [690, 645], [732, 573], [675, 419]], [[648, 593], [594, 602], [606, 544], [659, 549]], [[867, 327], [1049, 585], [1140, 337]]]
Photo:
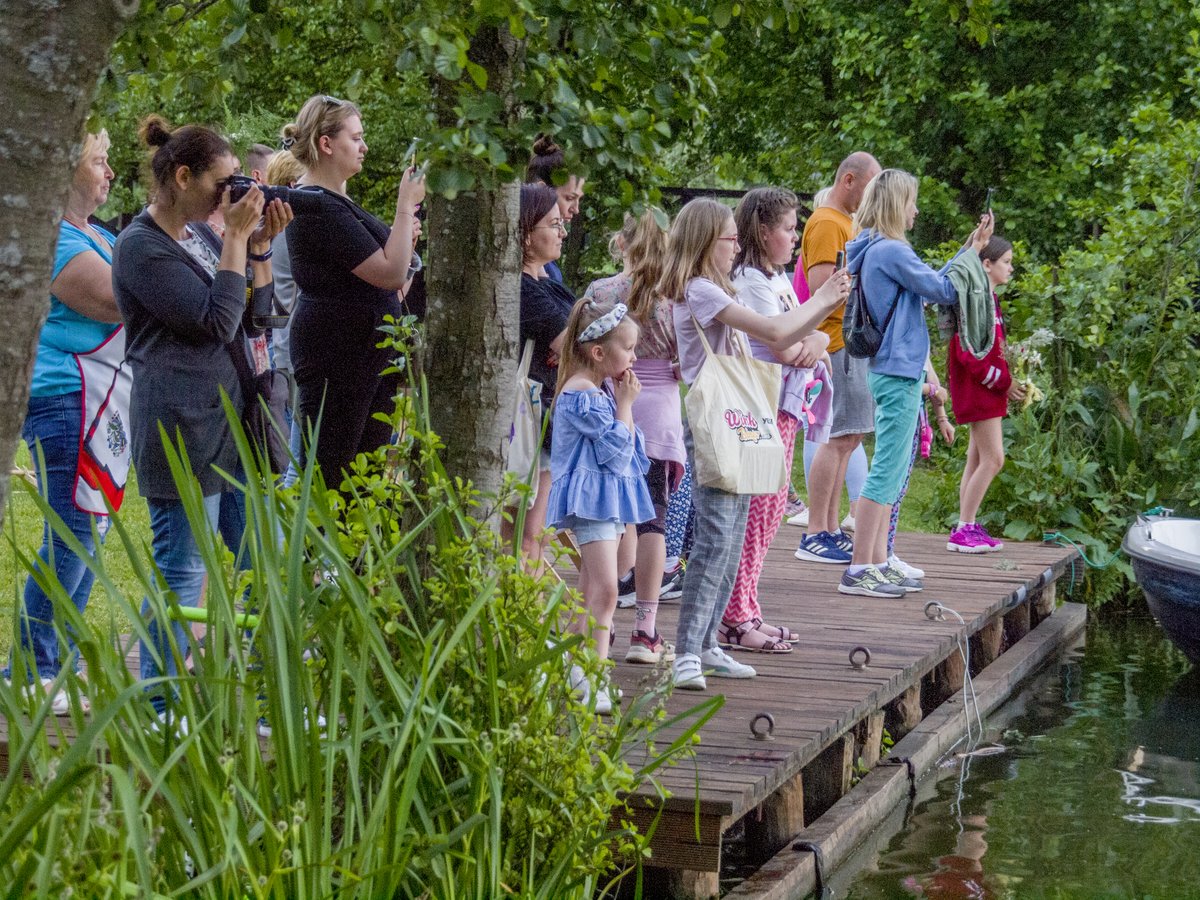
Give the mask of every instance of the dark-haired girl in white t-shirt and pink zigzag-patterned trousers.
[[[742, 248], [733, 260], [733, 287], [738, 302], [762, 316], [781, 316], [800, 304], [785, 266], [796, 250], [796, 194], [784, 187], [756, 187], [746, 193], [733, 212]], [[779, 398], [775, 427], [784, 440], [785, 467], [792, 469], [792, 450], [803, 418], [805, 385], [812, 368], [829, 346], [829, 336], [812, 331], [790, 347], [772, 347], [755, 337], [750, 350], [756, 359], [784, 366], [784, 390]], [[787, 506], [788, 482], [774, 494], [750, 498], [745, 540], [730, 602], [716, 631], [725, 648], [756, 653], [791, 653], [799, 635], [787, 628], [768, 625], [758, 605], [758, 576]]]

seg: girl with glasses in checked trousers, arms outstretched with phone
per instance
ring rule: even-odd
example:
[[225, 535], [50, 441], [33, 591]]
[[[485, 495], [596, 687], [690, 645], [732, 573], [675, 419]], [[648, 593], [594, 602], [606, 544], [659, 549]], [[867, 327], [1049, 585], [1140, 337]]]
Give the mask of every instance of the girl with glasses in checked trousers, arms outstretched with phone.
[[[773, 349], [786, 350], [845, 302], [850, 293], [850, 276], [839, 271], [804, 306], [774, 317], [762, 316], [736, 298], [730, 272], [737, 251], [733, 214], [716, 200], [692, 200], [671, 226], [659, 294], [674, 301], [679, 367], [689, 385], [706, 359], [697, 325], [704, 329], [714, 353], [733, 353], [734, 330]], [[684, 431], [684, 443], [689, 461], [695, 463], [690, 428]], [[728, 656], [716, 643], [716, 628], [742, 554], [750, 497], [697, 484], [692, 503], [695, 545], [684, 572], [674, 679], [679, 688], [703, 690], [706, 671], [725, 678], [755, 674], [754, 668]]]

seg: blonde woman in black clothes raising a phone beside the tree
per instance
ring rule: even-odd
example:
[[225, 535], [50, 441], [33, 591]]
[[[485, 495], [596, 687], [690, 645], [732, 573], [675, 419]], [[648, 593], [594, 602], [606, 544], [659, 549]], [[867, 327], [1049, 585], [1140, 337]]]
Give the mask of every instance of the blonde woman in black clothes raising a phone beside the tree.
[[367, 145], [358, 107], [336, 97], [310, 98], [284, 126], [283, 142], [305, 167], [300, 186], [320, 193], [318, 208], [306, 208], [288, 228], [300, 288], [292, 366], [306, 457], [314, 454], [336, 486], [355, 456], [391, 440], [390, 422], [376, 414], [390, 416], [400, 374], [384, 374], [392, 353], [377, 344], [384, 318], [403, 314], [397, 292], [410, 277], [425, 181], [412, 168], [401, 176], [391, 227], [347, 197], [346, 182], [361, 170]]

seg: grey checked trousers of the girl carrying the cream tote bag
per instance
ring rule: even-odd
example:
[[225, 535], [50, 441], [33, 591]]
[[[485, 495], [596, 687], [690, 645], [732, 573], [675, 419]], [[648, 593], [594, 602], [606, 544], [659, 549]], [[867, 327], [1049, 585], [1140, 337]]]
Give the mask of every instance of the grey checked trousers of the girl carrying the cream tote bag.
[[[691, 428], [684, 426], [689, 469], [696, 472]], [[716, 646], [716, 626], [733, 592], [742, 562], [750, 496], [726, 493], [692, 481], [691, 503], [696, 510], [695, 542], [683, 572], [683, 599], [676, 653], [701, 652]]]

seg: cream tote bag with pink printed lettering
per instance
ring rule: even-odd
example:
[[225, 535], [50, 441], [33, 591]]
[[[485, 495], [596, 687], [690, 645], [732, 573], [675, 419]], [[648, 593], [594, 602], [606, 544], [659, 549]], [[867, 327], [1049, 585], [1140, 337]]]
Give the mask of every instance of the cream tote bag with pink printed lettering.
[[688, 389], [684, 408], [695, 444], [695, 478], [727, 493], [775, 493], [784, 486], [786, 454], [775, 426], [782, 367], [750, 355], [739, 331], [736, 356], [713, 353], [692, 316], [704, 347], [704, 365]]

